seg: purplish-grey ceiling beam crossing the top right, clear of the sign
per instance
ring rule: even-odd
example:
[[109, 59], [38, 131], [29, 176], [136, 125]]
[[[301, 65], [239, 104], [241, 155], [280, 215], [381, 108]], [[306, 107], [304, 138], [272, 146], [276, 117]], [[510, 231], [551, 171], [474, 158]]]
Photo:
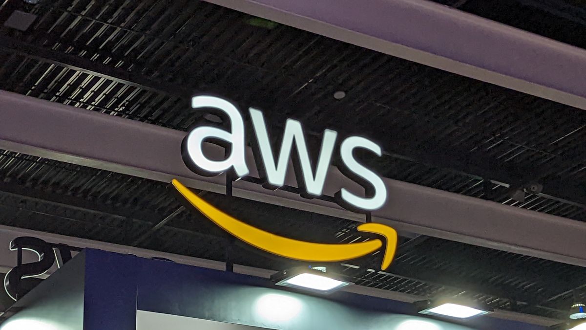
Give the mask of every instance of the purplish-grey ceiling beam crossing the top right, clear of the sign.
[[206, 0], [586, 109], [586, 50], [427, 0]]

